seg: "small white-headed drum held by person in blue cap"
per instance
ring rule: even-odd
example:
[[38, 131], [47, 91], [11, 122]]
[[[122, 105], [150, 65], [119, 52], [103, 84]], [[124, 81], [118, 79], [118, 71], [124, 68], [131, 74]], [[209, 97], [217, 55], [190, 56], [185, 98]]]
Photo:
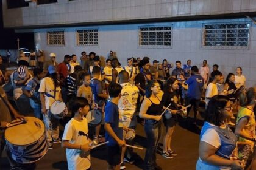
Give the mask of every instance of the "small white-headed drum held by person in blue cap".
[[55, 118], [64, 118], [68, 114], [68, 108], [62, 101], [54, 101], [50, 107], [50, 112]]

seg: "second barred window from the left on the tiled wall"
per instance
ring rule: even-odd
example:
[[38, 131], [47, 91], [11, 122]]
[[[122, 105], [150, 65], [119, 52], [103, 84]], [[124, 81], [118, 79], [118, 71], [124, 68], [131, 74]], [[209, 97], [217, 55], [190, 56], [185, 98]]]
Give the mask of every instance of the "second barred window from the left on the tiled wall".
[[98, 46], [98, 29], [76, 31], [77, 46]]

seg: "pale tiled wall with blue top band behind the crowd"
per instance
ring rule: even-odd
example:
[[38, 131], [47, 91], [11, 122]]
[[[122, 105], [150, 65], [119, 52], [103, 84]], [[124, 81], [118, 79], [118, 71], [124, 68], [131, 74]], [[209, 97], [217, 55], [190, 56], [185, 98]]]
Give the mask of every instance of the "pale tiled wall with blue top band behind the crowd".
[[[213, 50], [201, 49], [202, 23], [216, 22], [239, 22], [249, 21], [246, 18], [240, 19], [215, 19], [200, 20], [189, 22], [162, 22], [151, 24], [123, 24], [123, 25], [98, 25], [97, 27], [63, 27], [65, 30], [65, 46], [48, 46], [46, 42], [46, 30], [35, 29], [36, 47], [43, 49], [46, 55], [54, 52], [57, 54], [57, 61], [61, 62], [65, 54], [75, 53], [80, 56], [82, 51], [87, 53], [94, 51], [97, 55], [107, 56], [110, 50], [116, 52], [121, 64], [126, 64], [126, 59], [132, 56], [149, 56], [151, 62], [154, 59], [162, 61], [164, 58], [171, 63], [176, 60], [182, 64], [188, 59], [192, 60], [193, 65], [201, 66], [202, 60], [208, 60], [210, 69], [213, 64], [218, 64], [219, 70], [224, 75], [229, 72], [235, 73], [235, 68], [241, 66], [243, 74], [247, 78], [247, 85], [256, 85], [256, 27], [251, 25], [251, 35], [249, 50]], [[138, 27], [143, 25], [172, 25], [172, 48], [140, 48], [138, 47]], [[99, 46], [86, 47], [76, 46], [76, 29], [96, 28], [99, 29]], [[54, 29], [50, 29], [54, 30]]]

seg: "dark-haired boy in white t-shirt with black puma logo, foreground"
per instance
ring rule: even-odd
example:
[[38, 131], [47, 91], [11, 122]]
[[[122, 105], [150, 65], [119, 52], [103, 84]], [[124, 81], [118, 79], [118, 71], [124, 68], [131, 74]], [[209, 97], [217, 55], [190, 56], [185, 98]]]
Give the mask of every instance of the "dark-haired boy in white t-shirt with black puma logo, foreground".
[[65, 126], [62, 137], [62, 147], [66, 148], [68, 169], [90, 169], [90, 140], [88, 137], [88, 123], [85, 115], [90, 106], [83, 97], [71, 99], [70, 110], [73, 118]]

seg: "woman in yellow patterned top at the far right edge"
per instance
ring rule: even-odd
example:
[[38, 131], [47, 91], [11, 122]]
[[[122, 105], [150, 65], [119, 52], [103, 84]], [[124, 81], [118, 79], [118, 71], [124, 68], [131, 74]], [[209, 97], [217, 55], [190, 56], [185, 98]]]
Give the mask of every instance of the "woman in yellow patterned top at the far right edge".
[[[238, 148], [238, 157], [246, 163], [246, 168], [255, 169], [256, 153], [254, 152], [256, 138], [256, 122], [254, 115], [256, 89], [249, 88], [247, 92], [242, 92], [239, 97], [240, 110], [236, 120], [235, 134], [238, 135], [238, 141], [244, 143]], [[251, 166], [250, 166], [251, 164]], [[250, 169], [248, 168], [248, 169]]]

